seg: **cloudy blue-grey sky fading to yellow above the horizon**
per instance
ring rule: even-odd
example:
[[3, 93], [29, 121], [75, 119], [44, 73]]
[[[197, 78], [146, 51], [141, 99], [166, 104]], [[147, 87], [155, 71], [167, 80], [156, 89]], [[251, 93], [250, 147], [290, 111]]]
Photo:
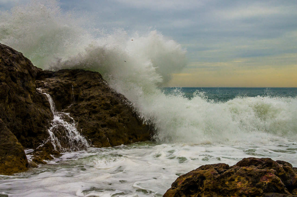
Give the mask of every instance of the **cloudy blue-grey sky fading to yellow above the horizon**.
[[[0, 0], [0, 9], [27, 0]], [[100, 28], [157, 30], [187, 49], [171, 87], [297, 87], [297, 1], [60, 0]]]

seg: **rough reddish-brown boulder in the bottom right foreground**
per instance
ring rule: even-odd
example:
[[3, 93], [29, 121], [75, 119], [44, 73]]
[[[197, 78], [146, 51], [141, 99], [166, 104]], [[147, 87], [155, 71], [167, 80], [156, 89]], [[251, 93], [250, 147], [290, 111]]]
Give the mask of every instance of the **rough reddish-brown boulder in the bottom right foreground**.
[[234, 166], [204, 165], [179, 176], [164, 197], [293, 197], [297, 196], [296, 168], [270, 158], [244, 158]]

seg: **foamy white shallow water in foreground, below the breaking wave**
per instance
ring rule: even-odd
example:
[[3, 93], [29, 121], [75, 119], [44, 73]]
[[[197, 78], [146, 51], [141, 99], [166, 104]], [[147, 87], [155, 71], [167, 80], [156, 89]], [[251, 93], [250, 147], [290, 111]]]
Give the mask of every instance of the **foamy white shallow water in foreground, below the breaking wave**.
[[4, 196], [162, 196], [175, 179], [201, 165], [236, 164], [244, 157], [271, 157], [297, 166], [297, 143], [136, 143], [64, 153], [47, 165], [0, 176]]

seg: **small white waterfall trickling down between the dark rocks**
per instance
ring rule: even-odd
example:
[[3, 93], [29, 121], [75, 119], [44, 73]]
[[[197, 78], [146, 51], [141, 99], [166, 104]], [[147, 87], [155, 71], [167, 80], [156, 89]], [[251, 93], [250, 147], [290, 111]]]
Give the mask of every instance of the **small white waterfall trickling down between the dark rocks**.
[[54, 116], [51, 127], [48, 129], [50, 136], [46, 142], [51, 141], [54, 149], [59, 152], [79, 151], [88, 148], [89, 142], [78, 132], [75, 121], [69, 116], [69, 113], [58, 112], [53, 98], [42, 92], [41, 89], [37, 88], [37, 90], [48, 97], [50, 110]]

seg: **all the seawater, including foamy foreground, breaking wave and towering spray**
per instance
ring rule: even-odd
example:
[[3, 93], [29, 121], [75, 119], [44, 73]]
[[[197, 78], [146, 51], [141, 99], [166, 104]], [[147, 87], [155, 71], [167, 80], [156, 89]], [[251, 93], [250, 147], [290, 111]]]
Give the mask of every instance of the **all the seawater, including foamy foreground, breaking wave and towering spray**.
[[187, 58], [158, 31], [86, 27], [50, 0], [0, 13], [2, 44], [42, 69], [100, 72], [155, 130], [153, 141], [64, 152], [39, 168], [0, 175], [1, 197], [162, 196], [205, 164], [270, 157], [297, 167], [296, 88], [162, 88]]

